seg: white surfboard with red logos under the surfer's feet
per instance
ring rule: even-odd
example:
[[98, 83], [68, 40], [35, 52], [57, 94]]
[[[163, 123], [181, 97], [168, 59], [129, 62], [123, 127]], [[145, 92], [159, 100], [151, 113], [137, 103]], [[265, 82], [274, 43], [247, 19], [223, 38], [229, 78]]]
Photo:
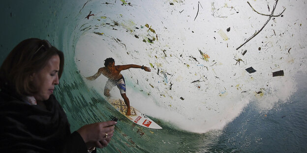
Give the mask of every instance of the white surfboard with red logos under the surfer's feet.
[[141, 113], [130, 105], [131, 115], [127, 116], [127, 106], [121, 99], [109, 99], [108, 102], [118, 110], [123, 116], [132, 121], [133, 123], [145, 128], [162, 129], [158, 124], [153, 122], [152, 119]]

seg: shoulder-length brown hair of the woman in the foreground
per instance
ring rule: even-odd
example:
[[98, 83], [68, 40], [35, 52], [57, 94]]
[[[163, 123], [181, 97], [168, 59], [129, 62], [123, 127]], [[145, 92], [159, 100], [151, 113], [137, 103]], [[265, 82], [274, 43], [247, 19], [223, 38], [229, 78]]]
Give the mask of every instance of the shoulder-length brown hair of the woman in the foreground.
[[30, 76], [42, 70], [53, 55], [60, 57], [59, 79], [63, 72], [64, 55], [47, 40], [30, 38], [20, 42], [5, 58], [0, 67], [0, 88], [19, 96], [31, 96], [37, 91]]

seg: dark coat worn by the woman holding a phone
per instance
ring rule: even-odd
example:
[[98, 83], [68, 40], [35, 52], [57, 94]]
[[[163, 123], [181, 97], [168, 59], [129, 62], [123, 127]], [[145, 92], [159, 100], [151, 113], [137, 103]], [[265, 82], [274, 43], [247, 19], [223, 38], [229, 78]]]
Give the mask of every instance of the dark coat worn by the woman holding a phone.
[[0, 91], [1, 153], [87, 153], [81, 135], [70, 133], [67, 116], [54, 95], [44, 101], [47, 110], [12, 95]]

